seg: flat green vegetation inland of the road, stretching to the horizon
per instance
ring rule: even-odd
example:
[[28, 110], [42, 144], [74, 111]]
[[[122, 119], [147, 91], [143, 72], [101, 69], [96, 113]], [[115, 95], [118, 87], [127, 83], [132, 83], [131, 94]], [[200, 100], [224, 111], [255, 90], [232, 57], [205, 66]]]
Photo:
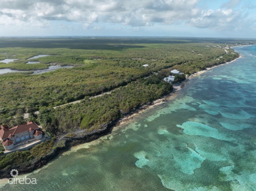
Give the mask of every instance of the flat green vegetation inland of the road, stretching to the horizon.
[[[210, 43], [214, 41], [215, 43]], [[0, 123], [21, 123], [24, 112], [32, 113], [100, 94], [127, 85], [162, 69], [179, 69], [192, 74], [238, 55], [218, 48], [218, 39], [170, 38], [1, 38], [0, 59], [19, 59], [0, 68], [20, 70], [47, 68], [50, 64], [72, 65], [45, 74], [9, 73], [0, 76]], [[231, 41], [229, 39], [229, 41]], [[227, 40], [223, 39], [223, 42]], [[239, 42], [241, 43], [241, 42]], [[228, 45], [233, 45], [229, 43]], [[39, 54], [50, 56], [31, 59]], [[222, 56], [220, 60], [216, 60]], [[148, 64], [149, 67], [142, 65]], [[14, 117], [15, 116], [15, 117]]]

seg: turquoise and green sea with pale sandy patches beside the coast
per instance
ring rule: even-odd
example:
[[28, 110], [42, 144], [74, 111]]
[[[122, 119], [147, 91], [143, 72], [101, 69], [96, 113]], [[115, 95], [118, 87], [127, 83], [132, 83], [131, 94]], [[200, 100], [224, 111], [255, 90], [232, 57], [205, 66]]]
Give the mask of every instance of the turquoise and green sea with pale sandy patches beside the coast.
[[[256, 190], [256, 46], [1, 190]], [[18, 176], [20, 178], [24, 177]]]

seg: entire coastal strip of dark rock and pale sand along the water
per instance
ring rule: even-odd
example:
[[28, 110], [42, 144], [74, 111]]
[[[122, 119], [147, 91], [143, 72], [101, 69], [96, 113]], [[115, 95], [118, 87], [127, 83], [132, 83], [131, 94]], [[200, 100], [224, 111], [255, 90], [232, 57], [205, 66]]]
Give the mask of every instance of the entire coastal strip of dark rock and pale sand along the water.
[[[239, 58], [241, 58], [241, 56], [230, 61], [230, 62], [226, 62], [224, 64], [234, 62], [235, 60], [237, 60]], [[224, 64], [221, 64], [221, 65], [224, 65]], [[220, 65], [217, 65], [217, 66], [220, 66]], [[217, 67], [217, 66], [213, 66], [212, 68]], [[212, 68], [207, 68], [206, 70], [199, 71], [199, 72], [196, 72], [195, 74], [190, 75], [186, 80], [184, 80], [179, 85], [174, 85], [173, 86], [174, 89], [170, 94], [165, 95], [163, 98], [157, 99], [154, 102], [149, 102], [149, 103], [141, 106], [140, 108], [125, 114], [124, 117], [122, 117], [121, 119], [112, 121], [112, 122], [108, 123], [107, 125], [104, 125], [101, 129], [96, 129], [96, 130], [93, 130], [90, 132], [78, 131], [75, 133], [75, 135], [73, 137], [65, 137], [65, 135], [67, 133], [59, 135], [58, 138], [55, 140], [55, 142], [61, 141], [62, 142], [61, 146], [57, 146], [55, 149], [52, 150], [52, 152], [50, 152], [50, 154], [33, 161], [30, 164], [30, 166], [26, 165], [26, 163], [27, 163], [27, 161], [26, 161], [23, 163], [22, 166], [13, 165], [11, 168], [7, 168], [4, 170], [0, 169], [0, 179], [11, 178], [11, 175], [10, 175], [11, 169], [18, 169], [19, 174], [31, 173], [32, 171], [46, 165], [50, 160], [57, 157], [58, 154], [60, 154], [61, 152], [67, 151], [72, 146], [77, 146], [77, 145], [80, 145], [83, 143], [91, 142], [93, 140], [99, 139], [100, 137], [102, 137], [104, 135], [110, 134], [112, 132], [112, 129], [116, 125], [119, 125], [119, 124], [122, 124], [124, 122], [131, 120], [133, 116], [140, 114], [140, 112], [142, 112], [144, 109], [164, 103], [170, 97], [174, 96], [176, 94], [176, 92], [179, 91], [190, 79], [192, 79], [193, 77], [200, 75]]]

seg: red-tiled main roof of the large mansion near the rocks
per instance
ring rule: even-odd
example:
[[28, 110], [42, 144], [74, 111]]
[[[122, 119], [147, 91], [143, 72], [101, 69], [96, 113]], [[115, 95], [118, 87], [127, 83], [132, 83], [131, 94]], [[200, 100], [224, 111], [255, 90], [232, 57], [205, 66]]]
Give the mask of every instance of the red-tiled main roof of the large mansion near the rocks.
[[0, 129], [0, 137], [1, 139], [7, 139], [9, 136], [15, 136], [16, 134], [26, 132], [26, 131], [34, 131], [38, 129], [39, 126], [34, 122], [27, 122], [27, 125], [17, 125], [11, 129], [1, 128]]

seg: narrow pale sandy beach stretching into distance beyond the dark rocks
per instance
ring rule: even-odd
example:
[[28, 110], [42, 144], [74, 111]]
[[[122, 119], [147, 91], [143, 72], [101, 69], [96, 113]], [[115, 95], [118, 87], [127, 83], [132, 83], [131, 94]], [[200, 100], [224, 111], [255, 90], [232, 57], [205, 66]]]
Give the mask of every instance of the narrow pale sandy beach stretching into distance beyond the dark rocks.
[[135, 111], [133, 114], [131, 114], [131, 115], [129, 115], [129, 116], [126, 116], [126, 117], [123, 117], [122, 119], [119, 120], [118, 124], [114, 126], [114, 128], [117, 127], [117, 126], [119, 126], [119, 125], [123, 125], [124, 123], [129, 122], [130, 120], [133, 119], [133, 117], [137, 116], [138, 114], [141, 114], [141, 113], [145, 112], [146, 109], [150, 109], [150, 108], [152, 108], [152, 107], [161, 105], [162, 103], [165, 103], [166, 100], [173, 98], [173, 97], [177, 94], [177, 92], [178, 92], [179, 90], [181, 90], [181, 89], [185, 86], [185, 84], [186, 84], [190, 79], [192, 79], [193, 77], [196, 77], [196, 76], [198, 76], [198, 75], [201, 75], [201, 74], [203, 74], [204, 72], [206, 72], [206, 71], [208, 71], [208, 70], [210, 70], [210, 69], [216, 68], [216, 67], [218, 67], [218, 66], [223, 66], [223, 65], [226, 65], [226, 64], [235, 62], [237, 59], [240, 59], [241, 57], [242, 57], [242, 56], [240, 55], [238, 58], [236, 58], [236, 59], [234, 59], [234, 60], [231, 60], [230, 62], [225, 62], [225, 63], [223, 63], [223, 64], [216, 65], [216, 66], [212, 66], [212, 67], [210, 67], [210, 68], [206, 68], [205, 70], [201, 70], [201, 71], [199, 71], [199, 72], [196, 72], [196, 73], [194, 73], [194, 74], [191, 74], [190, 76], [188, 76], [188, 77], [186, 78], [186, 80], [184, 80], [182, 83], [179, 83], [179, 85], [173, 85], [173, 91], [172, 91], [169, 95], [165, 95], [163, 98], [160, 98], [160, 99], [155, 100], [151, 105], [145, 106], [145, 107], [143, 107], [143, 109], [138, 109], [138, 111]]

